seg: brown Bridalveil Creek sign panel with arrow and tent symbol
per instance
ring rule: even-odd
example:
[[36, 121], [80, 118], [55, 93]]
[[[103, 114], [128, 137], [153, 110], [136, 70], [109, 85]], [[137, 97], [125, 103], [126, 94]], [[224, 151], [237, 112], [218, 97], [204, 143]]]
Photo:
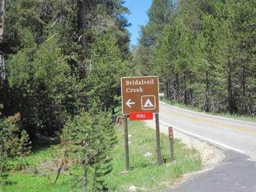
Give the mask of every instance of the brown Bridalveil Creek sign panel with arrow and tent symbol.
[[122, 77], [122, 114], [159, 113], [158, 76]]

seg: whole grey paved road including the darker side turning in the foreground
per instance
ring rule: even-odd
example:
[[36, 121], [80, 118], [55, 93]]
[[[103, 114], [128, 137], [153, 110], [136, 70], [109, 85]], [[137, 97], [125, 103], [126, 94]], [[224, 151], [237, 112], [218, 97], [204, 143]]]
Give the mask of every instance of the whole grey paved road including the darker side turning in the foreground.
[[196, 113], [163, 102], [160, 122], [220, 147], [226, 156], [213, 171], [169, 191], [256, 192], [256, 123]]

